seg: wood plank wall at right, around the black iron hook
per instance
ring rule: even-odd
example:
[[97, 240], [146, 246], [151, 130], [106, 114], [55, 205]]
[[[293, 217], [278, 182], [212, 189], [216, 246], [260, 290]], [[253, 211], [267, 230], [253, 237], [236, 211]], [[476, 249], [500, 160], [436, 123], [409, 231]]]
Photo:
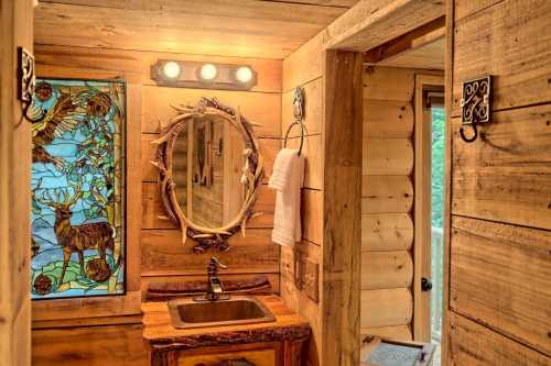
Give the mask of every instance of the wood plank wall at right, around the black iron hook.
[[[551, 365], [551, 2], [449, 3], [450, 365]], [[464, 143], [462, 81], [494, 76]]]

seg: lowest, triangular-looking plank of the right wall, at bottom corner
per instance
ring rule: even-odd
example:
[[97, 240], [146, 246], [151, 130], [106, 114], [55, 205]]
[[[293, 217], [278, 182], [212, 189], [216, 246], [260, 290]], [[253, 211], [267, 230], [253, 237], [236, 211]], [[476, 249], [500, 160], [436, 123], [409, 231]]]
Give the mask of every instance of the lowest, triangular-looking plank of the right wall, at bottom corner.
[[490, 331], [467, 318], [450, 312], [447, 365], [549, 366], [551, 358]]

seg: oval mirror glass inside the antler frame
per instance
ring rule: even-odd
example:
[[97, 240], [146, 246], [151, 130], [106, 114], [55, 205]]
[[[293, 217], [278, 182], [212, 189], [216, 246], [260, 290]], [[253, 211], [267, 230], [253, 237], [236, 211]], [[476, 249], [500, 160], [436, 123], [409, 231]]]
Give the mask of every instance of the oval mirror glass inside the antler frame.
[[191, 119], [173, 149], [173, 179], [182, 212], [197, 225], [220, 228], [239, 213], [246, 143], [237, 129], [216, 115]]

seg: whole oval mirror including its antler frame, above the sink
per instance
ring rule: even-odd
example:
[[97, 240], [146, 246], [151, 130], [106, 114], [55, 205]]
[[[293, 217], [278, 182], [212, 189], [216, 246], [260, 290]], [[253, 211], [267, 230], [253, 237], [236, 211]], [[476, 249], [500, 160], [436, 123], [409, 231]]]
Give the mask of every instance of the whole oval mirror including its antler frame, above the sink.
[[196, 253], [229, 248], [252, 212], [263, 177], [252, 123], [216, 99], [176, 108], [162, 129], [155, 160], [161, 200], [169, 218], [192, 237]]

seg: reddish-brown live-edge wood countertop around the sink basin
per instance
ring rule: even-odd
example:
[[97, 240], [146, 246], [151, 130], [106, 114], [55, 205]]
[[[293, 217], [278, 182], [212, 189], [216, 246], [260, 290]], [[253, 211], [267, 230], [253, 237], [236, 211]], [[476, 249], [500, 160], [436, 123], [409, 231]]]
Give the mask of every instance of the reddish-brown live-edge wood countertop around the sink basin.
[[175, 329], [172, 326], [166, 301], [144, 302], [143, 339], [152, 348], [191, 350], [205, 346], [242, 343], [263, 343], [306, 340], [310, 336], [307, 321], [289, 310], [277, 296], [257, 297], [276, 317], [274, 322]]

